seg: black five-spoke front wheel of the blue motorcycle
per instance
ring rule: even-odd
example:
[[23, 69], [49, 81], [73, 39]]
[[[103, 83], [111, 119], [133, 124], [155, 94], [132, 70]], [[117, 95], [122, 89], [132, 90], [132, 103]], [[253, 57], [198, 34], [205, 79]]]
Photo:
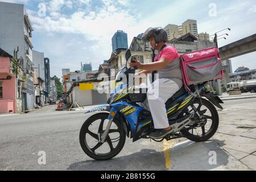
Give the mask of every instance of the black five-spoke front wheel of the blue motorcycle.
[[125, 145], [126, 134], [121, 122], [114, 118], [109, 130], [108, 137], [104, 143], [99, 141], [99, 137], [104, 133], [108, 125], [108, 113], [92, 115], [81, 127], [80, 145], [82, 150], [90, 158], [96, 160], [109, 160], [118, 155]]

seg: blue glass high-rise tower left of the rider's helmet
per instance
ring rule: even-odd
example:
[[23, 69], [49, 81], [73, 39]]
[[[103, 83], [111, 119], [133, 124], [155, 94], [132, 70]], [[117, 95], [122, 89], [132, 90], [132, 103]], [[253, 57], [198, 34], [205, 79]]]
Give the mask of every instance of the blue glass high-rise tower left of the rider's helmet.
[[128, 39], [127, 34], [122, 30], [118, 30], [115, 32], [112, 38], [112, 50], [113, 52], [117, 51], [117, 49], [127, 49], [128, 48]]

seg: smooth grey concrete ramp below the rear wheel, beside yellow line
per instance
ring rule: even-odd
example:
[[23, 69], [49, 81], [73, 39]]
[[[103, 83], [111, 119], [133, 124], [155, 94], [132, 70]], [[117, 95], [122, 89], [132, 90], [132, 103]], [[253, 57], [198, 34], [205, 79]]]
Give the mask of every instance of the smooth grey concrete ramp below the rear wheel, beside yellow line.
[[214, 140], [184, 142], [171, 148], [170, 171], [249, 171], [245, 164], [234, 158]]

